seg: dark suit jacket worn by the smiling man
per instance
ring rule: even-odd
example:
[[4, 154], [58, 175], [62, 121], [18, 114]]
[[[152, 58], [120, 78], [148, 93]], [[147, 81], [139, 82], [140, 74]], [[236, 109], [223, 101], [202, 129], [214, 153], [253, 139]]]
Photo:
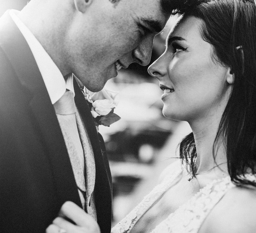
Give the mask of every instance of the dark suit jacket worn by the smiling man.
[[[96, 210], [110, 232], [112, 181], [104, 142], [76, 83], [75, 102], [96, 163]], [[45, 232], [65, 201], [81, 207], [68, 152], [42, 76], [9, 16], [0, 22], [0, 232]]]

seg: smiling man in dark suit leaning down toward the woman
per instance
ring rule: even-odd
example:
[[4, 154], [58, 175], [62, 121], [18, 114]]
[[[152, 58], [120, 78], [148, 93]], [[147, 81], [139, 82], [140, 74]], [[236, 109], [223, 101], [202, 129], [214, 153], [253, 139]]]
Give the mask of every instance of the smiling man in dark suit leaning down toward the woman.
[[104, 143], [72, 73], [97, 92], [147, 65], [168, 2], [31, 0], [0, 19], [1, 232], [110, 232]]

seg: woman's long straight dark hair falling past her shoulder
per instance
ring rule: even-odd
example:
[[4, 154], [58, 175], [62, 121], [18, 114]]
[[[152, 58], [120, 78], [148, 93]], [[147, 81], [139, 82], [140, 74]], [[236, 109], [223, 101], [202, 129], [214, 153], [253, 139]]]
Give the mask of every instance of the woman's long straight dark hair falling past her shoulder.
[[[214, 141], [224, 140], [231, 180], [256, 173], [256, 6], [254, 0], [173, 0], [173, 14], [202, 20], [201, 35], [213, 45], [214, 59], [231, 67], [232, 92]], [[180, 143], [180, 158], [195, 175], [196, 147], [193, 133]]]

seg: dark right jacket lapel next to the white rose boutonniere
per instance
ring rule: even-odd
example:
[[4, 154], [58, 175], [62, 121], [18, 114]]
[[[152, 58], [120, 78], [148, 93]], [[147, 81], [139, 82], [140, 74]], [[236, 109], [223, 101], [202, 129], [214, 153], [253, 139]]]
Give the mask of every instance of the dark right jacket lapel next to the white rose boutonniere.
[[[88, 132], [95, 158], [96, 181], [95, 181], [95, 203], [97, 210], [98, 224], [101, 230], [111, 227], [112, 212], [112, 181], [109, 165], [105, 153], [102, 153], [98, 133], [92, 118], [89, 106], [85, 100], [76, 80], [74, 79], [75, 103], [82, 116]], [[106, 232], [106, 231], [103, 231]]]

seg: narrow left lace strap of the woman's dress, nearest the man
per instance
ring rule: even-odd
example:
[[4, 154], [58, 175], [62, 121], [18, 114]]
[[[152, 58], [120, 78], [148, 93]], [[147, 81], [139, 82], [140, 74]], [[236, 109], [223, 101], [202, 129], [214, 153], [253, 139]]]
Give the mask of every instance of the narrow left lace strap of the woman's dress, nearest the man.
[[[164, 171], [169, 170], [162, 182], [146, 195], [143, 200], [123, 218], [116, 226], [111, 229], [111, 233], [129, 233], [140, 217], [165, 193], [172, 185], [175, 179], [181, 176], [180, 161], [169, 165]], [[171, 172], [170, 172], [171, 171]]]

